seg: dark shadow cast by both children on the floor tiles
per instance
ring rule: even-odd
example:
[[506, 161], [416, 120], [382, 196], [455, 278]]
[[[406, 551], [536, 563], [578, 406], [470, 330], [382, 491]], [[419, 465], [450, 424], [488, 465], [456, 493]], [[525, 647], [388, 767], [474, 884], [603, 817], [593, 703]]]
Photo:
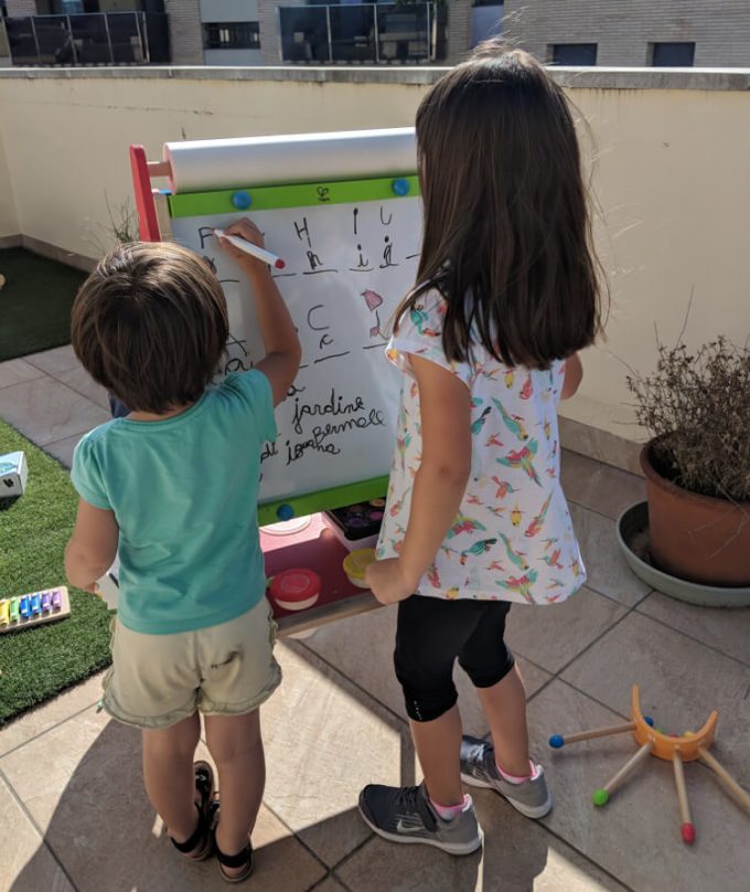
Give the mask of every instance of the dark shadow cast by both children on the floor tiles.
[[[405, 754], [401, 764], [413, 765], [413, 755]], [[480, 803], [480, 808], [488, 831], [483, 856], [478, 852], [458, 859], [425, 846], [396, 847], [373, 837], [344, 859], [338, 875], [355, 892], [371, 889], [470, 892], [501, 888], [503, 892], [532, 892], [535, 878], [547, 862], [547, 835], [534, 828], [529, 836], [528, 824], [494, 795]], [[502, 819], [503, 830], [489, 826], [496, 824], [496, 819], [489, 818], [491, 814]], [[303, 833], [324, 832], [325, 824], [334, 831], [342, 820], [360, 818], [355, 809], [350, 809], [306, 828]], [[172, 850], [143, 790], [140, 734], [115, 721], [105, 725], [76, 765], [47, 824], [44, 840], [81, 892], [226, 890], [213, 859], [191, 863]], [[46, 859], [41, 847], [15, 878], [10, 892], [29, 892], [34, 888], [33, 878], [39, 878], [43, 867], [35, 863], [36, 859]], [[324, 873], [325, 868], [287, 835], [258, 849], [256, 873], [248, 888], [302, 892]]]

